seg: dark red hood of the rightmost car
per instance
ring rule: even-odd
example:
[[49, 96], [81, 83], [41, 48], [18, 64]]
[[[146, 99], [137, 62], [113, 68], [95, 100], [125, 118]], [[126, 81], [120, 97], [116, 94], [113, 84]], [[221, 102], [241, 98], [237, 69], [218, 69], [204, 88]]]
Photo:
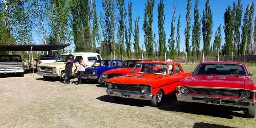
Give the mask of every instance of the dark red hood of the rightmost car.
[[244, 83], [245, 79], [243, 76], [193, 75], [181, 80], [178, 85], [244, 89]]

